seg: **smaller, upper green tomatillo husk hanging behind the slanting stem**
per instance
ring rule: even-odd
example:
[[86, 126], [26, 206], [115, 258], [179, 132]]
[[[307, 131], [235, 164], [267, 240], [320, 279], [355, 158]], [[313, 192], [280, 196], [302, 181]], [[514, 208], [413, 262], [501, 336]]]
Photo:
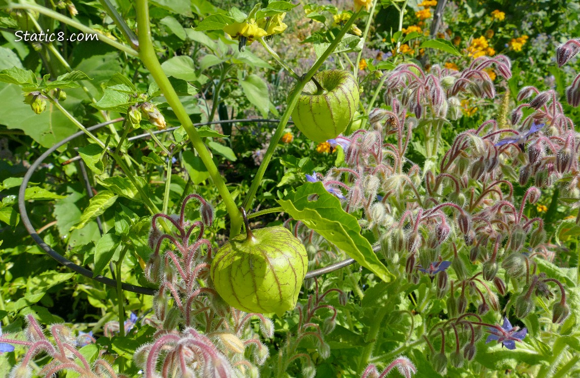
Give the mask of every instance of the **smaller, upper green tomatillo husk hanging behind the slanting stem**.
[[[294, 89], [291, 96], [293, 92]], [[358, 83], [350, 72], [318, 72], [302, 89], [292, 111], [292, 120], [313, 141], [333, 139], [344, 132], [353, 119], [358, 96]]]

